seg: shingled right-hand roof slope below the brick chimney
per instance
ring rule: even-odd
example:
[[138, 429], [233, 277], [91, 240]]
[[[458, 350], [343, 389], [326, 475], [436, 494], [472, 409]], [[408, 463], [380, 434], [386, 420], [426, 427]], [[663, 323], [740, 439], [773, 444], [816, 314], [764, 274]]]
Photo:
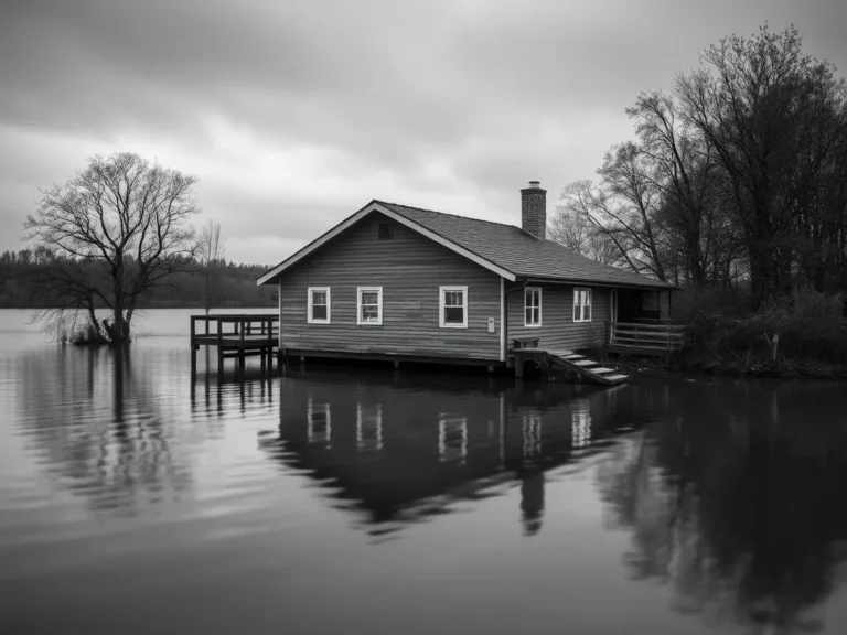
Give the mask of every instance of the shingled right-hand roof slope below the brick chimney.
[[673, 284], [624, 271], [542, 240], [514, 225], [374, 201], [392, 212], [473, 251], [518, 278], [597, 282], [623, 287], [674, 289]]

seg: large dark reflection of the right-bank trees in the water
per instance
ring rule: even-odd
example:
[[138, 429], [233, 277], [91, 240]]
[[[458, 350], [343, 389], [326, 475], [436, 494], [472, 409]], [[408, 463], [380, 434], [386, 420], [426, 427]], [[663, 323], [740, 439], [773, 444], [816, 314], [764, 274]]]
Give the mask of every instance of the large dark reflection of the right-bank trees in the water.
[[785, 383], [674, 390], [672, 417], [599, 473], [613, 521], [632, 532], [632, 574], [671, 584], [680, 611], [709, 621], [819, 631], [847, 555], [838, 395]]

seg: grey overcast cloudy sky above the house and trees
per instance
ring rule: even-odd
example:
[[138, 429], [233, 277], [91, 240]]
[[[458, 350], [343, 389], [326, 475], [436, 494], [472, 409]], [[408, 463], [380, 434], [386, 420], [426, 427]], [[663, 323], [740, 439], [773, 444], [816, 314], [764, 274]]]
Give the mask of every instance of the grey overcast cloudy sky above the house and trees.
[[0, 250], [94, 153], [196, 175], [227, 258], [276, 263], [372, 198], [519, 223], [722, 35], [795, 24], [847, 74], [844, 0], [9, 0]]

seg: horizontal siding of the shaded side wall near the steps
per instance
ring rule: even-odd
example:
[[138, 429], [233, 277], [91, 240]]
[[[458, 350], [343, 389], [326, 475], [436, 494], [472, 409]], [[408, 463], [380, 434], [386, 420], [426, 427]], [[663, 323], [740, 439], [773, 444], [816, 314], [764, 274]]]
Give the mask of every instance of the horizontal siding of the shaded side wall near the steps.
[[[508, 337], [536, 336], [540, 348], [576, 351], [605, 344], [609, 340], [610, 295], [607, 287], [590, 284], [530, 284], [542, 288], [542, 326], [524, 326], [524, 292], [518, 287], [506, 294]], [[573, 289], [591, 289], [591, 322], [573, 322]]]

